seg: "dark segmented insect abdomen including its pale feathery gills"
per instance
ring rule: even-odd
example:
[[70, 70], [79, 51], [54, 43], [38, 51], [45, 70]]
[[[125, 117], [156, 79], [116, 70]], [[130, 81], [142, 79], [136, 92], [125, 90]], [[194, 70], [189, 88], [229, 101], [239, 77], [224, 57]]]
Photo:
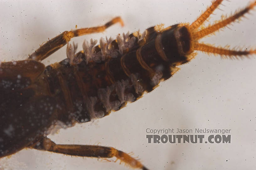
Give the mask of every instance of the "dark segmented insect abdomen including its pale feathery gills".
[[76, 54], [77, 45], [67, 44], [67, 59], [45, 69], [51, 94], [59, 103], [58, 120], [72, 125], [101, 118], [170, 78], [177, 63], [186, 62], [174, 35], [177, 27], [160, 32], [155, 26], [142, 34], [101, 38], [98, 46], [97, 41], [85, 41], [83, 51]]

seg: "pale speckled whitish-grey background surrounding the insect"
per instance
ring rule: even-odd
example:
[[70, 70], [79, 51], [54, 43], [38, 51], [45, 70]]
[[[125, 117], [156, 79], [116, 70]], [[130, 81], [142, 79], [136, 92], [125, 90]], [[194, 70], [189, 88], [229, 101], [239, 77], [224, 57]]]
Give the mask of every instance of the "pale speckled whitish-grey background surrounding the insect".
[[[248, 0], [224, 1], [210, 22], [248, 4]], [[48, 38], [81, 27], [102, 25], [121, 16], [125, 27], [115, 25], [104, 33], [73, 38], [82, 49], [86, 38], [115, 37], [164, 23], [192, 23], [210, 0], [184, 1], [1, 1], [0, 60], [27, 58]], [[256, 47], [256, 12], [247, 19], [207, 37], [201, 42], [216, 46]], [[208, 25], [208, 23], [206, 23]], [[252, 169], [255, 167], [256, 60], [221, 60], [198, 53], [189, 64], [152, 93], [118, 112], [49, 136], [58, 144], [98, 144], [126, 153], [134, 152], [149, 169]], [[66, 46], [43, 63], [66, 58]], [[231, 129], [230, 144], [148, 144], [146, 128]], [[207, 137], [207, 134], [205, 134]], [[113, 158], [115, 160], [115, 158]], [[24, 149], [0, 160], [0, 169], [130, 169], [95, 158], [79, 158]]]

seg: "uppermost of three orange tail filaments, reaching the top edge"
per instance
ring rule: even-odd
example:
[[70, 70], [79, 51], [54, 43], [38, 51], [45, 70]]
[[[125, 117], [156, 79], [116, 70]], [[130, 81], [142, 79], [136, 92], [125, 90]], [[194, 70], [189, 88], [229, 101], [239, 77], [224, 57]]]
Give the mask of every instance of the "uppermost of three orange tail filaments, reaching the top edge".
[[189, 29], [191, 31], [197, 30], [200, 25], [202, 25], [203, 22], [211, 15], [211, 13], [221, 4], [223, 0], [216, 0], [212, 2], [211, 6], [206, 9], [206, 11], [200, 15], [200, 17], [195, 20], [191, 25], [189, 25]]

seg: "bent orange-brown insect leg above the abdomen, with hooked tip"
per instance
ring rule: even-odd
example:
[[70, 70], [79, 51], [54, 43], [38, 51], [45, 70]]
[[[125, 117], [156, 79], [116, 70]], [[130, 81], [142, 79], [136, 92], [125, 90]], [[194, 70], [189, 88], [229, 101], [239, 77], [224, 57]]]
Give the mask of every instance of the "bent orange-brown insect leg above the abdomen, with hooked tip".
[[47, 41], [44, 45], [39, 47], [37, 50], [35, 50], [33, 54], [29, 55], [28, 59], [32, 59], [36, 61], [43, 60], [48, 56], [50, 56], [52, 53], [56, 52], [58, 49], [60, 49], [64, 45], [66, 45], [71, 38], [86, 35], [86, 34], [91, 34], [91, 33], [103, 32], [106, 28], [118, 22], [121, 24], [121, 26], [124, 25], [123, 20], [120, 17], [115, 17], [114, 19], [107, 22], [103, 26], [81, 28], [73, 31], [64, 31], [60, 35], [52, 38], [51, 40]]

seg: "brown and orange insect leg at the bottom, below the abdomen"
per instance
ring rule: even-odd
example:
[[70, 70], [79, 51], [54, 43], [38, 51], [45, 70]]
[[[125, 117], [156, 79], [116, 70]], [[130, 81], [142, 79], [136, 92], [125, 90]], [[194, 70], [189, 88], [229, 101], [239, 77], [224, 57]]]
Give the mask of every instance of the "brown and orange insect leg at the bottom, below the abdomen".
[[55, 153], [63, 153], [72, 156], [94, 157], [94, 158], [112, 158], [116, 157], [121, 162], [128, 164], [131, 168], [140, 168], [148, 170], [138, 160], [132, 158], [129, 154], [124, 153], [112, 147], [104, 147], [98, 145], [59, 145], [51, 141], [49, 138], [42, 138], [40, 143], [33, 144], [28, 148], [50, 151]]

